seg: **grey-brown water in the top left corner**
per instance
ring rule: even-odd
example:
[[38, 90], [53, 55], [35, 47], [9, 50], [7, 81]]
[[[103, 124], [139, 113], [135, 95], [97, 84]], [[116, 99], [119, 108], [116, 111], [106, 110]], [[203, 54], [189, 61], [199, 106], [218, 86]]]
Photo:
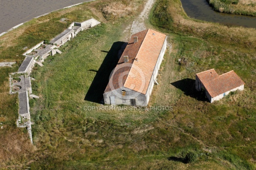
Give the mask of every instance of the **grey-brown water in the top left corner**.
[[38, 17], [90, 0], [0, 0], [0, 33]]

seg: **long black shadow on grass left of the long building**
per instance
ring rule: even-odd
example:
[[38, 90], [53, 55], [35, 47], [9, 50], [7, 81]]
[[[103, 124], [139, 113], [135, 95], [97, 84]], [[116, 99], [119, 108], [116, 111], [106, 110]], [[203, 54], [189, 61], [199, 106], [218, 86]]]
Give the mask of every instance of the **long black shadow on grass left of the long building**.
[[96, 76], [94, 77], [93, 82], [84, 97], [84, 100], [96, 103], [100, 103], [102, 101], [103, 93], [108, 85], [109, 76], [111, 71], [116, 67], [116, 64], [119, 60], [118, 54], [120, 53], [122, 45], [125, 43], [126, 42], [120, 41], [114, 42], [109, 51], [102, 51], [107, 52], [107, 55], [103, 60], [99, 70], [95, 71]]

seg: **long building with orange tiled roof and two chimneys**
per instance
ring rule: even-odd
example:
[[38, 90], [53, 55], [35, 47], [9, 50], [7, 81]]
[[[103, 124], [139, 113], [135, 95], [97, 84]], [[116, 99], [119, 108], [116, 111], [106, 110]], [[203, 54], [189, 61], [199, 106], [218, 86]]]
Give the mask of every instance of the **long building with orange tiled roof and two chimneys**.
[[105, 104], [147, 106], [167, 36], [147, 29], [131, 36], [104, 91]]

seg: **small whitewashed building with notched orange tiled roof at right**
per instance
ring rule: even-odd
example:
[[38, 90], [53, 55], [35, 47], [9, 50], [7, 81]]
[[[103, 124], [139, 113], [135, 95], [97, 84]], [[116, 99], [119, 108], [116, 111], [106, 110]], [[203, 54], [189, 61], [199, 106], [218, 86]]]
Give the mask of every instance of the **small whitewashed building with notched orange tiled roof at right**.
[[201, 91], [204, 88], [209, 101], [217, 101], [231, 91], [244, 90], [245, 83], [238, 77], [235, 71], [218, 75], [214, 69], [203, 71], [195, 76], [195, 88]]

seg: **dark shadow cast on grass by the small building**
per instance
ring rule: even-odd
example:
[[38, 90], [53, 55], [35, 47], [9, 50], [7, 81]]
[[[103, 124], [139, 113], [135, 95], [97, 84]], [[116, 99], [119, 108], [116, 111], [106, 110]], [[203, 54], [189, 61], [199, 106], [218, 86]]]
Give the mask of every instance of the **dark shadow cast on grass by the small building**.
[[195, 90], [194, 79], [186, 78], [186, 79], [178, 80], [176, 82], [172, 82], [171, 85], [183, 91], [186, 96], [190, 96], [199, 101], [207, 101], [207, 98], [203, 91]]

